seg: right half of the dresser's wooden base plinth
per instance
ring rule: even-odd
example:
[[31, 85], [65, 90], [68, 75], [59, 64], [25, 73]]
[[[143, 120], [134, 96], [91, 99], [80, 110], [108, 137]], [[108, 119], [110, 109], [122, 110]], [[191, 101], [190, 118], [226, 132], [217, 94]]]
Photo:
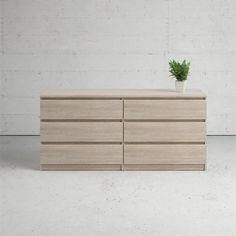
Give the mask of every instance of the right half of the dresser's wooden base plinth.
[[203, 171], [205, 165], [124, 165], [124, 170], [130, 171]]

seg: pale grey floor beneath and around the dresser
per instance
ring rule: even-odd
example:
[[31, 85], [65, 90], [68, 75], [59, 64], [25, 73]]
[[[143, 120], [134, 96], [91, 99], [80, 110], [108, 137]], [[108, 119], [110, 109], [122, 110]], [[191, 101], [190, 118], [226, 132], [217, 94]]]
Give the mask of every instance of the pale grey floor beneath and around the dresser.
[[39, 137], [0, 137], [0, 235], [236, 235], [236, 137], [206, 172], [41, 172]]

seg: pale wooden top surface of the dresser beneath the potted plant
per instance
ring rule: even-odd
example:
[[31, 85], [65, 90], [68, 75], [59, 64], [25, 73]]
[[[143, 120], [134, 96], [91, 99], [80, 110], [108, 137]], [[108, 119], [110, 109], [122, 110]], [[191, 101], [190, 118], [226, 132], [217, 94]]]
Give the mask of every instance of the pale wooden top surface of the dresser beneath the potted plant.
[[198, 89], [177, 93], [171, 89], [63, 89], [47, 90], [41, 98], [205, 98]]

